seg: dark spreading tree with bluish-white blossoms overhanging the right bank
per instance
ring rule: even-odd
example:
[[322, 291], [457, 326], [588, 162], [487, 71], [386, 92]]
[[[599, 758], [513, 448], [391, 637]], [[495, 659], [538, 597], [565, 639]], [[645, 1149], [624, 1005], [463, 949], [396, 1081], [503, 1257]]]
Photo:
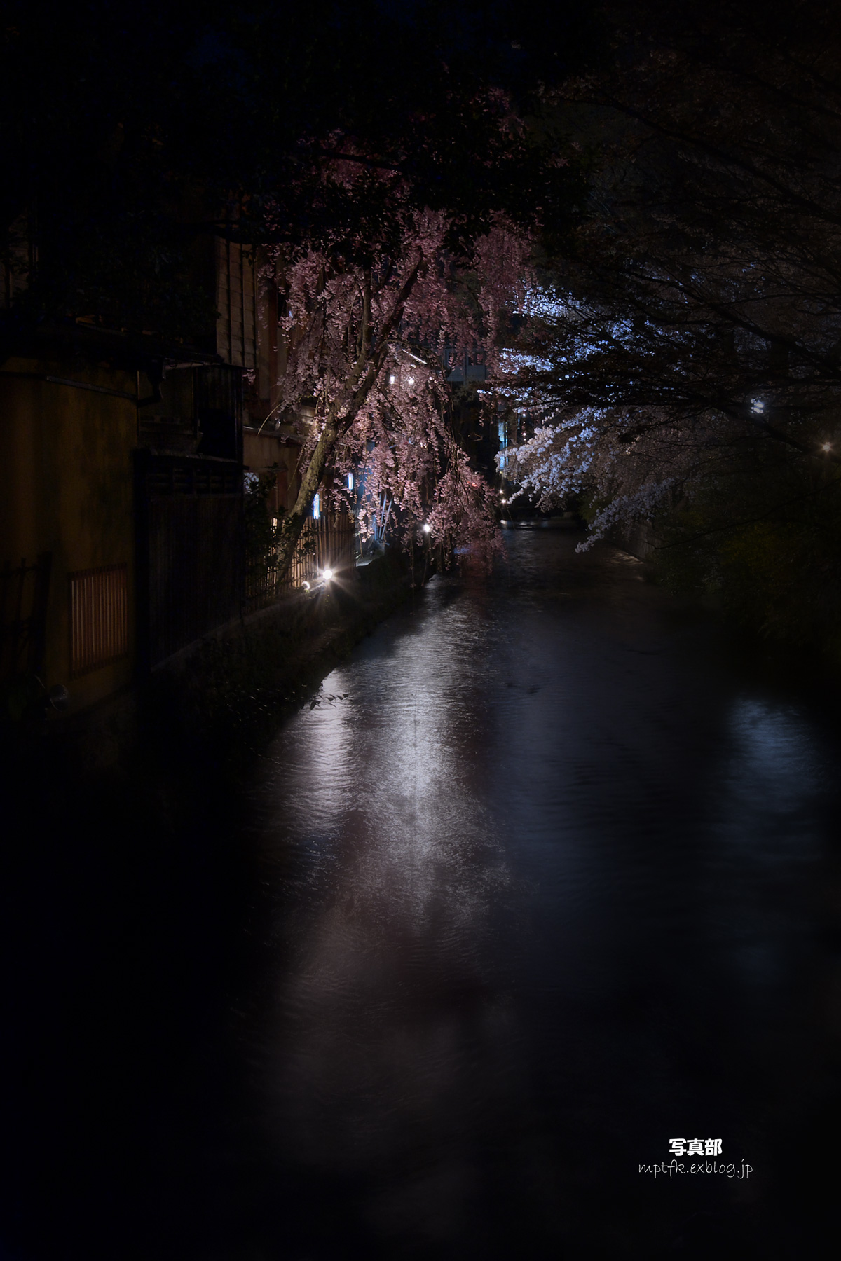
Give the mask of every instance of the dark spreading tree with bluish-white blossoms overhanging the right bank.
[[[760, 20], [762, 19], [762, 20]], [[841, 21], [633, 5], [547, 108], [590, 155], [512, 378], [519, 472], [595, 532], [657, 522], [673, 576], [769, 633], [841, 623]], [[682, 560], [678, 562], [678, 557]], [[748, 594], [753, 593], [753, 594]]]

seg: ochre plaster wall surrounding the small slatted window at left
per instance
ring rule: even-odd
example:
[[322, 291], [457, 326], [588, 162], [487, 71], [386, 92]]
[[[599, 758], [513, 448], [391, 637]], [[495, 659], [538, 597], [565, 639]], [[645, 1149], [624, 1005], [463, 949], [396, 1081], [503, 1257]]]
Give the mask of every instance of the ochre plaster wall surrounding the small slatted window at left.
[[[53, 556], [43, 682], [64, 683], [71, 711], [129, 683], [135, 656], [131, 398], [14, 373], [58, 376], [135, 395], [132, 373], [8, 359], [0, 369], [0, 565]], [[129, 656], [71, 678], [68, 574], [129, 566]]]

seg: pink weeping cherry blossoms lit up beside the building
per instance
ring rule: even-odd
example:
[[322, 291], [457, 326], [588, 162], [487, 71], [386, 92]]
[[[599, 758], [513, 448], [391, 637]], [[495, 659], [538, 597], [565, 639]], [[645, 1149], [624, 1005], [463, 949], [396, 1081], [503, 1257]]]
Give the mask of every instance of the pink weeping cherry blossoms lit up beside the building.
[[[351, 175], [343, 168], [342, 179]], [[318, 488], [325, 482], [334, 504], [347, 501], [353, 474], [363, 535], [387, 525], [409, 541], [426, 523], [449, 551], [497, 546], [493, 492], [453, 430], [445, 352], [480, 346], [494, 369], [502, 323], [523, 299], [528, 242], [502, 217], [454, 248], [456, 230], [440, 212], [401, 204], [392, 187], [380, 238], [277, 252], [287, 342], [280, 407], [304, 443], [293, 542]], [[301, 419], [304, 401], [314, 420]]]

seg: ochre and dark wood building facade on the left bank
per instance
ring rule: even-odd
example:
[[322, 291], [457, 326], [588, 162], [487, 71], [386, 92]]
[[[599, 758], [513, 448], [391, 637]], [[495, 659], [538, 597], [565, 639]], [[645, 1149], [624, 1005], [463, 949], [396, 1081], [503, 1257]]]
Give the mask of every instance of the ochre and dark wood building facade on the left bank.
[[241, 246], [199, 242], [218, 318], [185, 343], [78, 318], [21, 322], [37, 252], [13, 230], [0, 294], [0, 696], [15, 720], [50, 706], [50, 691], [71, 714], [87, 709], [240, 617], [243, 386], [252, 402], [269, 363]]

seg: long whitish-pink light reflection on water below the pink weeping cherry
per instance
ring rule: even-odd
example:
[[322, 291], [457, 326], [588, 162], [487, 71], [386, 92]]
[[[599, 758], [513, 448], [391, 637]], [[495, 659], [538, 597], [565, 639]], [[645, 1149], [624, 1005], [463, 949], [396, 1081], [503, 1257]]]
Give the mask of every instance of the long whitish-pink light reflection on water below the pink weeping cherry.
[[282, 733], [264, 825], [291, 947], [271, 1063], [282, 1154], [364, 1173], [372, 1226], [429, 1241], [464, 1229], [472, 1148], [508, 1088], [492, 939], [509, 876], [475, 782], [475, 638], [451, 607], [332, 675], [322, 695], [347, 695]]

